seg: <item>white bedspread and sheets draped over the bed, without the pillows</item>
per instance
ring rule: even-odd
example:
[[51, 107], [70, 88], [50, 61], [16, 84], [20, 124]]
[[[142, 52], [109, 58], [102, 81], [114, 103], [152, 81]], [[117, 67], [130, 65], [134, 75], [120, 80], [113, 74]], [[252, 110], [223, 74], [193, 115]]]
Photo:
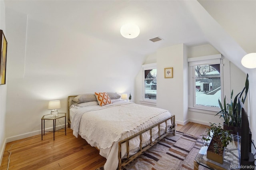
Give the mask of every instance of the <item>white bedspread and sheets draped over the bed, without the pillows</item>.
[[[100, 107], [72, 107], [70, 108], [71, 129], [91, 146], [100, 149], [100, 155], [107, 158], [105, 170], [116, 170], [118, 166], [118, 141], [128, 138], [168, 117], [171, 114], [155, 107], [137, 105], [123, 101]], [[171, 125], [168, 121], [168, 126]], [[165, 129], [165, 123], [160, 126]], [[163, 132], [164, 130], [162, 130]], [[161, 132], [161, 133], [162, 133]], [[153, 140], [158, 137], [158, 128], [152, 130]], [[142, 135], [143, 145], [149, 142], [149, 131]], [[134, 138], [129, 142], [130, 155], [137, 152], [140, 139]], [[126, 155], [126, 145], [122, 145], [122, 156]]]

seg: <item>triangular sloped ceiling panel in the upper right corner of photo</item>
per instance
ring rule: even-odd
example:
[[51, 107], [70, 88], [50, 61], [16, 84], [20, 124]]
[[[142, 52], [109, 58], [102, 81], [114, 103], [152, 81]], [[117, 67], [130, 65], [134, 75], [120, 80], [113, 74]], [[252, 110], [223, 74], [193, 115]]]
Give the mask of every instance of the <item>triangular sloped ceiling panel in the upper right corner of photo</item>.
[[198, 2], [247, 53], [256, 52], [256, 0]]

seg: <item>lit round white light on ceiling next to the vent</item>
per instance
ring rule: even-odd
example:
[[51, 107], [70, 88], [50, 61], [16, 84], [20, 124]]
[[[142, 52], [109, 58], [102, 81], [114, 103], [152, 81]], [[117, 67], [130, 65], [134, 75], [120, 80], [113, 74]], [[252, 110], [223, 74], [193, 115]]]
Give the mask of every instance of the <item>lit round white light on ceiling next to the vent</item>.
[[140, 34], [140, 28], [135, 24], [125, 24], [121, 27], [120, 33], [124, 38], [136, 38]]

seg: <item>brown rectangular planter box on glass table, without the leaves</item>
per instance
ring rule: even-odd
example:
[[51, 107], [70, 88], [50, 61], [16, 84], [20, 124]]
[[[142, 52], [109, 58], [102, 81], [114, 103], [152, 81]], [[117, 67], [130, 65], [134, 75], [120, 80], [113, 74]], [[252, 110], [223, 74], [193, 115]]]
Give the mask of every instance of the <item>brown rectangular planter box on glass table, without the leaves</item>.
[[225, 148], [223, 148], [223, 150], [219, 150], [218, 154], [214, 153], [214, 151], [213, 151], [214, 143], [215, 143], [215, 141], [212, 139], [208, 148], [207, 148], [206, 158], [208, 158], [210, 160], [213, 160], [215, 162], [218, 162], [220, 164], [223, 164]]

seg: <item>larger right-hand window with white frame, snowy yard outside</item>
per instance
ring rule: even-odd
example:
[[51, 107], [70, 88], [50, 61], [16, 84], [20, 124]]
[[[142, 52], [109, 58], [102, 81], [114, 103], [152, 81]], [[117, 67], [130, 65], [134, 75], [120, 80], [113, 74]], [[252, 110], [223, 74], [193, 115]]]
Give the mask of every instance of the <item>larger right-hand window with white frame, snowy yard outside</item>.
[[[214, 55], [216, 57], [216, 55]], [[209, 56], [207, 56], [209, 57]], [[222, 59], [196, 60], [189, 62], [190, 107], [219, 110], [222, 101]], [[200, 58], [202, 59], [202, 58]], [[190, 61], [190, 59], [188, 59]]]

